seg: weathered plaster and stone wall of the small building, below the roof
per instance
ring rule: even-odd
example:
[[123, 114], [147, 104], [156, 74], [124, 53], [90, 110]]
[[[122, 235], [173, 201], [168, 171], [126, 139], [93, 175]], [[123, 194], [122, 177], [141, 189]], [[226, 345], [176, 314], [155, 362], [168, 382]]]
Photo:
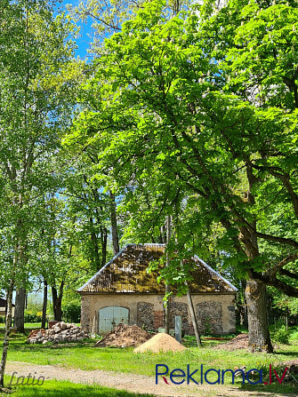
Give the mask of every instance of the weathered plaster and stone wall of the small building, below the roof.
[[[156, 331], [164, 326], [164, 296], [137, 293], [82, 294], [81, 324], [85, 332], [97, 333], [99, 311], [107, 306], [129, 309], [129, 324], [137, 324], [146, 330]], [[202, 333], [225, 334], [235, 331], [234, 294], [193, 294], [193, 305]], [[174, 316], [181, 315], [182, 329], [193, 334], [187, 298], [171, 298], [170, 327]]]

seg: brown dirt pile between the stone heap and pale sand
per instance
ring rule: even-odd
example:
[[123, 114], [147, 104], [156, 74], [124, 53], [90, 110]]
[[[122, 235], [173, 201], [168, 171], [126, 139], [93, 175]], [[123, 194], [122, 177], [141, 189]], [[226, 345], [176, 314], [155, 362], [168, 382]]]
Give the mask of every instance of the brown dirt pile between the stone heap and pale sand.
[[151, 335], [137, 325], [119, 324], [108, 335], [99, 340], [94, 347], [132, 347], [149, 340]]

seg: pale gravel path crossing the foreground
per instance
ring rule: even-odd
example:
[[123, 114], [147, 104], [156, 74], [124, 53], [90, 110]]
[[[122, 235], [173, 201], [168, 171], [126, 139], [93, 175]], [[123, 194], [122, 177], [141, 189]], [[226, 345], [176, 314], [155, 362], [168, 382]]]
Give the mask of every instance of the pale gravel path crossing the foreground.
[[[9, 361], [8, 375], [18, 372], [17, 377], [31, 376], [45, 379], [69, 380], [81, 384], [99, 384], [134, 393], [151, 393], [164, 397], [285, 397], [284, 394], [241, 391], [228, 385], [166, 385], [163, 381], [155, 385], [154, 377], [117, 373], [103, 370], [66, 369], [54, 365], [36, 365], [28, 362]], [[36, 372], [36, 374], [35, 374]]]

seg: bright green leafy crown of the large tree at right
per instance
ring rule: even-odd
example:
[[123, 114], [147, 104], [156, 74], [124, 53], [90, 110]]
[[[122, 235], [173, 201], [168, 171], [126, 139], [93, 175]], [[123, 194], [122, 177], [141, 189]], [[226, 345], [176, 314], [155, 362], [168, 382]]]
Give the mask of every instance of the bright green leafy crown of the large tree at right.
[[125, 237], [157, 240], [171, 214], [180, 250], [298, 296], [296, 5], [216, 7], [143, 4], [106, 39], [64, 141], [96, 148], [94, 178], [133, 213]]

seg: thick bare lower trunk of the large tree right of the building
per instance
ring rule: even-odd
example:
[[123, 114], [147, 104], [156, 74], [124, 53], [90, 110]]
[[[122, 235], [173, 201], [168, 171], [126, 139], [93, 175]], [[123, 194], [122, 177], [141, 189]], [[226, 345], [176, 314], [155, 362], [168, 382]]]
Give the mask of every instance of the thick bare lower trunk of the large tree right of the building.
[[248, 314], [248, 348], [251, 352], [272, 353], [266, 306], [266, 285], [263, 282], [246, 282]]

